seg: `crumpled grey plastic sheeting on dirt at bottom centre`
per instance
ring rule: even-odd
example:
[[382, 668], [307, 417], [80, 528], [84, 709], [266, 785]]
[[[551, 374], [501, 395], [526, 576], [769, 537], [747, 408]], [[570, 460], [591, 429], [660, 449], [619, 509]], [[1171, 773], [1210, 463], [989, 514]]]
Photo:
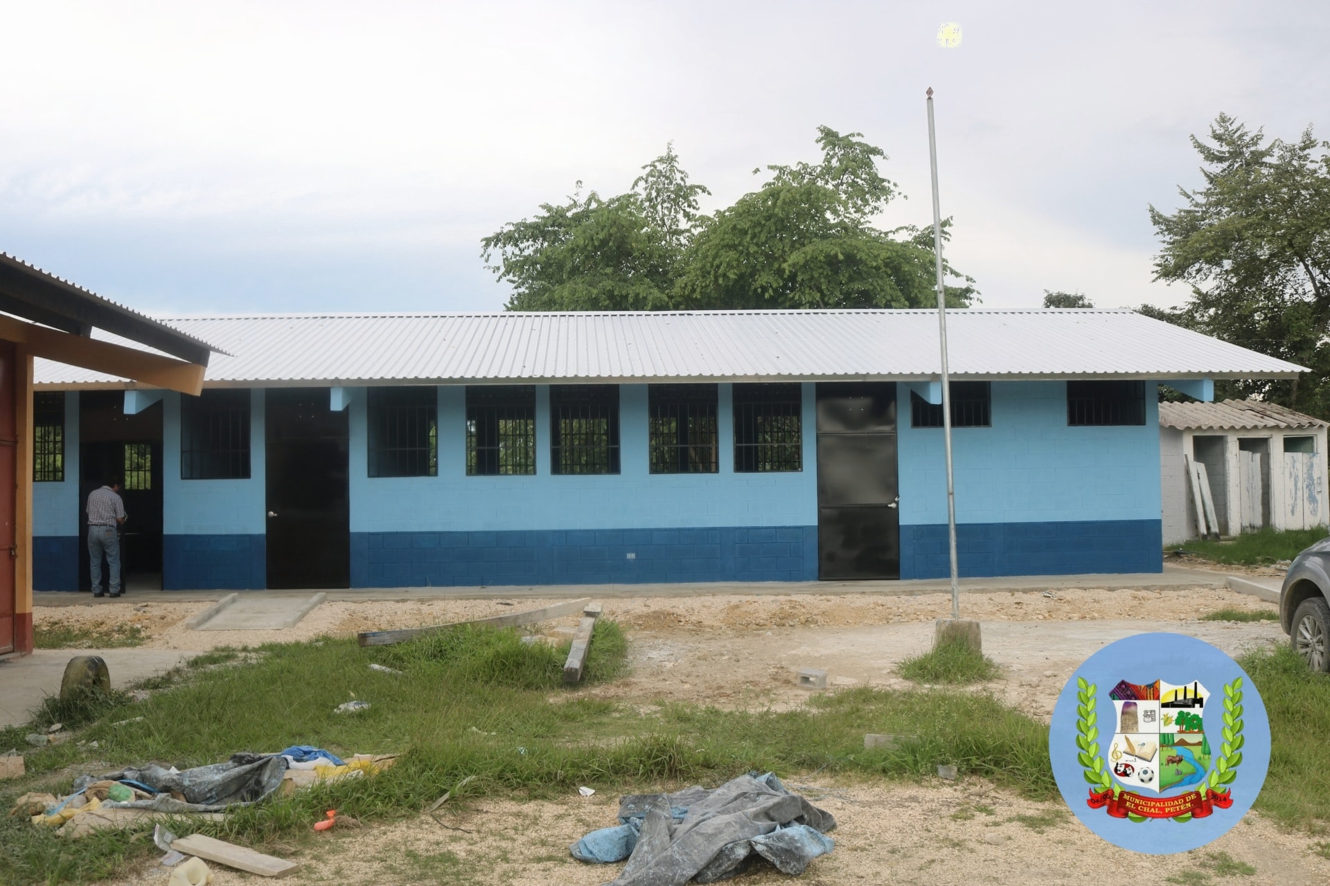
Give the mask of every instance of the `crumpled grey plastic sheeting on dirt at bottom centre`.
[[[618, 817], [620, 828], [592, 832], [573, 845], [575, 857], [581, 857], [579, 847], [597, 849], [597, 857], [585, 861], [621, 861], [621, 854], [612, 857], [614, 850], [630, 853], [618, 878], [606, 886], [710, 883], [739, 873], [753, 853], [782, 873], [801, 874], [835, 845], [825, 836], [835, 828], [835, 818], [786, 792], [771, 773], [739, 776], [716, 790], [628, 796], [620, 801]], [[621, 828], [630, 828], [638, 817], [636, 842], [628, 846], [625, 837], [616, 843], [612, 836], [624, 836]]]

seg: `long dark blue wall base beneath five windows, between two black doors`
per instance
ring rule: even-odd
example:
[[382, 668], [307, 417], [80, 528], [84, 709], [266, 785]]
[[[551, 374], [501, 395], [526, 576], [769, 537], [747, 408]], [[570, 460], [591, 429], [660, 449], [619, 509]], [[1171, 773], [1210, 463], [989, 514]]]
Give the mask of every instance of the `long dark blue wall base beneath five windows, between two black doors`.
[[351, 587], [805, 582], [817, 576], [817, 526], [351, 533]]

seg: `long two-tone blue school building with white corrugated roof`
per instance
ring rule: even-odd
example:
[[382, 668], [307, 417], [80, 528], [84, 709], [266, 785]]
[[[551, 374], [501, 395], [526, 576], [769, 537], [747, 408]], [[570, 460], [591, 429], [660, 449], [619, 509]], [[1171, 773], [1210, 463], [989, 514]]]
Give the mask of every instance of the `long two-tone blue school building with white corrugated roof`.
[[[33, 582], [424, 587], [947, 574], [934, 311], [234, 316], [201, 396], [35, 367]], [[960, 571], [1162, 569], [1157, 385], [1301, 367], [1130, 311], [948, 311]]]

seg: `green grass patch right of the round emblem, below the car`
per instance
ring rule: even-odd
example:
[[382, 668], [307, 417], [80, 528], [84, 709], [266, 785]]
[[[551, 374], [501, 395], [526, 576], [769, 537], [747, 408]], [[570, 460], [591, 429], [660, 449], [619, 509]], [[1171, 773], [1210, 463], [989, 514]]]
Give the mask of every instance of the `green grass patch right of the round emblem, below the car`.
[[[1238, 659], [1270, 717], [1270, 770], [1256, 808], [1279, 824], [1330, 824], [1330, 676], [1313, 673], [1289, 644]], [[1322, 832], [1323, 833], [1323, 832]]]

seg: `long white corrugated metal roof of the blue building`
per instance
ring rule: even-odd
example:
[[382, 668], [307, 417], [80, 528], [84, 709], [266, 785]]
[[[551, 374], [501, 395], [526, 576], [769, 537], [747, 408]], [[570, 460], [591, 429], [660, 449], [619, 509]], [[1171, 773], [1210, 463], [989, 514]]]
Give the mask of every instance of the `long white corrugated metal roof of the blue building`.
[[[205, 384], [928, 379], [935, 311], [698, 311], [176, 317], [234, 356]], [[947, 312], [970, 379], [1285, 377], [1302, 367], [1132, 311]], [[41, 361], [37, 384], [110, 384]]]

